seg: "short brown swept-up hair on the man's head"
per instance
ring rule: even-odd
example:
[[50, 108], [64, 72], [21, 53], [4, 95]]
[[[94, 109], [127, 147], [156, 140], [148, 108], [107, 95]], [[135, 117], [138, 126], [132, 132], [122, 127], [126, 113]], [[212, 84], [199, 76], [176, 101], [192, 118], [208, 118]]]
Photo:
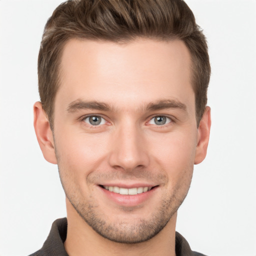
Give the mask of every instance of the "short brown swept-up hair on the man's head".
[[71, 38], [128, 42], [137, 37], [181, 39], [191, 54], [197, 125], [207, 102], [210, 64], [207, 43], [183, 0], [68, 0], [48, 19], [38, 55], [38, 88], [53, 128], [64, 44]]

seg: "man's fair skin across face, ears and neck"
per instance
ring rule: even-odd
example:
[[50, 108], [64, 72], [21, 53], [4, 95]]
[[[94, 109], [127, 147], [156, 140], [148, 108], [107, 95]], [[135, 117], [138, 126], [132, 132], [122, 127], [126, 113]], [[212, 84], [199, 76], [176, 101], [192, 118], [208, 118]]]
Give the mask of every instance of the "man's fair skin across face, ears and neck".
[[[64, 46], [54, 135], [40, 102], [34, 127], [45, 159], [58, 164], [69, 255], [175, 255], [176, 211], [210, 129], [209, 107], [196, 125], [190, 77], [180, 40]], [[102, 185], [153, 189], [117, 196]]]

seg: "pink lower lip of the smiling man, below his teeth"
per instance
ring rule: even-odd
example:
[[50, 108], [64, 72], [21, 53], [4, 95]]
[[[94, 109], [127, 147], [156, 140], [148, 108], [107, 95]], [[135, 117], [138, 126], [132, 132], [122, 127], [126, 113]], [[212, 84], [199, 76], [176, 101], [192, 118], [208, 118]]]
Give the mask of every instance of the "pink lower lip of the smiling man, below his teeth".
[[119, 193], [114, 193], [109, 190], [106, 190], [105, 188], [98, 186], [102, 192], [112, 201], [119, 205], [123, 206], [136, 206], [144, 201], [146, 201], [149, 197], [152, 196], [152, 194], [155, 192], [157, 187], [153, 187], [149, 191], [139, 193], [139, 194], [134, 194], [134, 195], [129, 195], [129, 194], [119, 194]]

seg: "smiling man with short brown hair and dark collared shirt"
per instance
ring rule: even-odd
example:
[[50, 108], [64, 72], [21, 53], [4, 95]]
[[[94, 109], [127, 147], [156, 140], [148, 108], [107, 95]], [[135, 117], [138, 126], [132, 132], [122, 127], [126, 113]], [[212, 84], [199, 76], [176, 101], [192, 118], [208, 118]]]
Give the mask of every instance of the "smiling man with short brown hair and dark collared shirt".
[[210, 130], [205, 37], [182, 0], [73, 0], [47, 21], [34, 128], [67, 218], [32, 255], [202, 255], [177, 232]]

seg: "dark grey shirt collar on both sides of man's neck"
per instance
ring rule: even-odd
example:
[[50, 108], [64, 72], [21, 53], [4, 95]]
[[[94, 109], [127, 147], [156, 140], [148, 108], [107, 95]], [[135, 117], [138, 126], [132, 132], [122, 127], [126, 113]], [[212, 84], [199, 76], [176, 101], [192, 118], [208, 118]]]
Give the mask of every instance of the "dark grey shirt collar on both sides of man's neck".
[[[63, 242], [66, 239], [67, 219], [58, 218], [51, 226], [50, 233], [43, 243], [41, 249], [29, 256], [68, 256]], [[204, 254], [192, 251], [185, 238], [176, 232], [175, 235], [176, 256], [205, 256]]]

